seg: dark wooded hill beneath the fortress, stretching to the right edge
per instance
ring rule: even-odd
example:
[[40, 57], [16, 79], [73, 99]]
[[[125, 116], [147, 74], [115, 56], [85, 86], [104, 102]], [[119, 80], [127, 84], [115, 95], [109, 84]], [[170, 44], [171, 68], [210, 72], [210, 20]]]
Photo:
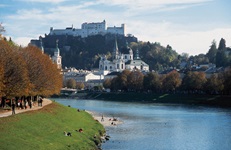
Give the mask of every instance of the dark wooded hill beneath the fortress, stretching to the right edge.
[[[45, 35], [44, 38], [39, 37], [39, 39], [42, 39], [45, 53], [50, 56], [53, 56], [56, 40], [59, 40], [63, 68], [75, 67], [87, 70], [98, 68], [100, 55], [102, 54], [107, 55], [110, 59], [115, 45], [115, 38], [121, 53], [126, 52], [126, 43], [133, 49], [133, 52], [138, 49], [141, 59], [149, 65], [150, 70], [163, 71], [169, 68], [180, 68], [181, 62], [186, 62], [186, 67], [191, 67], [193, 64], [208, 63], [214, 63], [219, 67], [231, 65], [231, 49], [226, 47], [223, 38], [221, 38], [218, 48], [216, 41], [212, 41], [207, 54], [189, 56], [187, 53], [178, 54], [170, 45], [162, 46], [158, 42], [142, 42], [138, 41], [134, 36], [106, 34], [86, 38], [70, 35]], [[31, 43], [41, 47], [40, 40], [31, 40]]]

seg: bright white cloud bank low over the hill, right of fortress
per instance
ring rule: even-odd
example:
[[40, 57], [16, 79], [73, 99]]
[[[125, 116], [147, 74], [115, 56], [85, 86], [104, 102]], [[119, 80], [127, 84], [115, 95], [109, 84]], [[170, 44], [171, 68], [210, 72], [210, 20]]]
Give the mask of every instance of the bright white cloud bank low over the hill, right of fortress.
[[147, 23], [130, 20], [127, 32], [134, 34], [141, 41], [160, 42], [161, 45], [171, 45], [179, 54], [186, 52], [190, 55], [205, 54], [208, 52], [213, 39], [219, 43], [221, 38], [226, 39], [226, 45], [231, 46], [231, 27], [211, 28], [207, 30], [191, 30], [184, 25], [163, 21]]

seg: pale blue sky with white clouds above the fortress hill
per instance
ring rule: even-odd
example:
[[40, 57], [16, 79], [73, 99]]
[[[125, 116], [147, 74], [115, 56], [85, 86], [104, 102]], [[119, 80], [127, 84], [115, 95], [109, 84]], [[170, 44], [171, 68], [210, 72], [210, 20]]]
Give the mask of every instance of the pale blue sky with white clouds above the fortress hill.
[[171, 45], [179, 54], [206, 53], [213, 39], [231, 46], [230, 0], [1, 0], [0, 22], [7, 37], [27, 45], [72, 24], [126, 24], [140, 41]]

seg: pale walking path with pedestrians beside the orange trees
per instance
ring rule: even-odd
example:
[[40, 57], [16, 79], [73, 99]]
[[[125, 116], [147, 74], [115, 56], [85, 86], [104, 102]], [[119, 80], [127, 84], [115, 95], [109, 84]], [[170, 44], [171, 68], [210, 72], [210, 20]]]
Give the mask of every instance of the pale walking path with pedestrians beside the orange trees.
[[[32, 108], [27, 108], [27, 109], [18, 109], [17, 107], [15, 108], [15, 114], [19, 114], [19, 113], [22, 113], [22, 112], [26, 112], [26, 111], [32, 111], [32, 110], [38, 110], [38, 109], [41, 109], [43, 108], [43, 106], [46, 106], [46, 105], [49, 105], [51, 104], [52, 101], [49, 100], [49, 99], [46, 99], [44, 98], [43, 99], [43, 103], [42, 103], [42, 107], [41, 106], [38, 106], [38, 103], [36, 102], [34, 106], [32, 106]], [[12, 115], [12, 111], [11, 110], [8, 110], [8, 111], [5, 111], [5, 112], [0, 112], [0, 118], [1, 117], [8, 117], [8, 116], [11, 116]]]

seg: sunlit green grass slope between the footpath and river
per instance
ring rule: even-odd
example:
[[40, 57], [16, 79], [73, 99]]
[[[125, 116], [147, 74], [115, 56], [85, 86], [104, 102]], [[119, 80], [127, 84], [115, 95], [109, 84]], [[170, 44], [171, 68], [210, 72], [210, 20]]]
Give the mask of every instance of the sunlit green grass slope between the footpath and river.
[[[76, 132], [79, 128], [83, 133]], [[64, 136], [63, 132], [72, 136]], [[43, 109], [0, 118], [1, 150], [97, 149], [94, 135], [105, 130], [85, 111], [53, 102]]]

